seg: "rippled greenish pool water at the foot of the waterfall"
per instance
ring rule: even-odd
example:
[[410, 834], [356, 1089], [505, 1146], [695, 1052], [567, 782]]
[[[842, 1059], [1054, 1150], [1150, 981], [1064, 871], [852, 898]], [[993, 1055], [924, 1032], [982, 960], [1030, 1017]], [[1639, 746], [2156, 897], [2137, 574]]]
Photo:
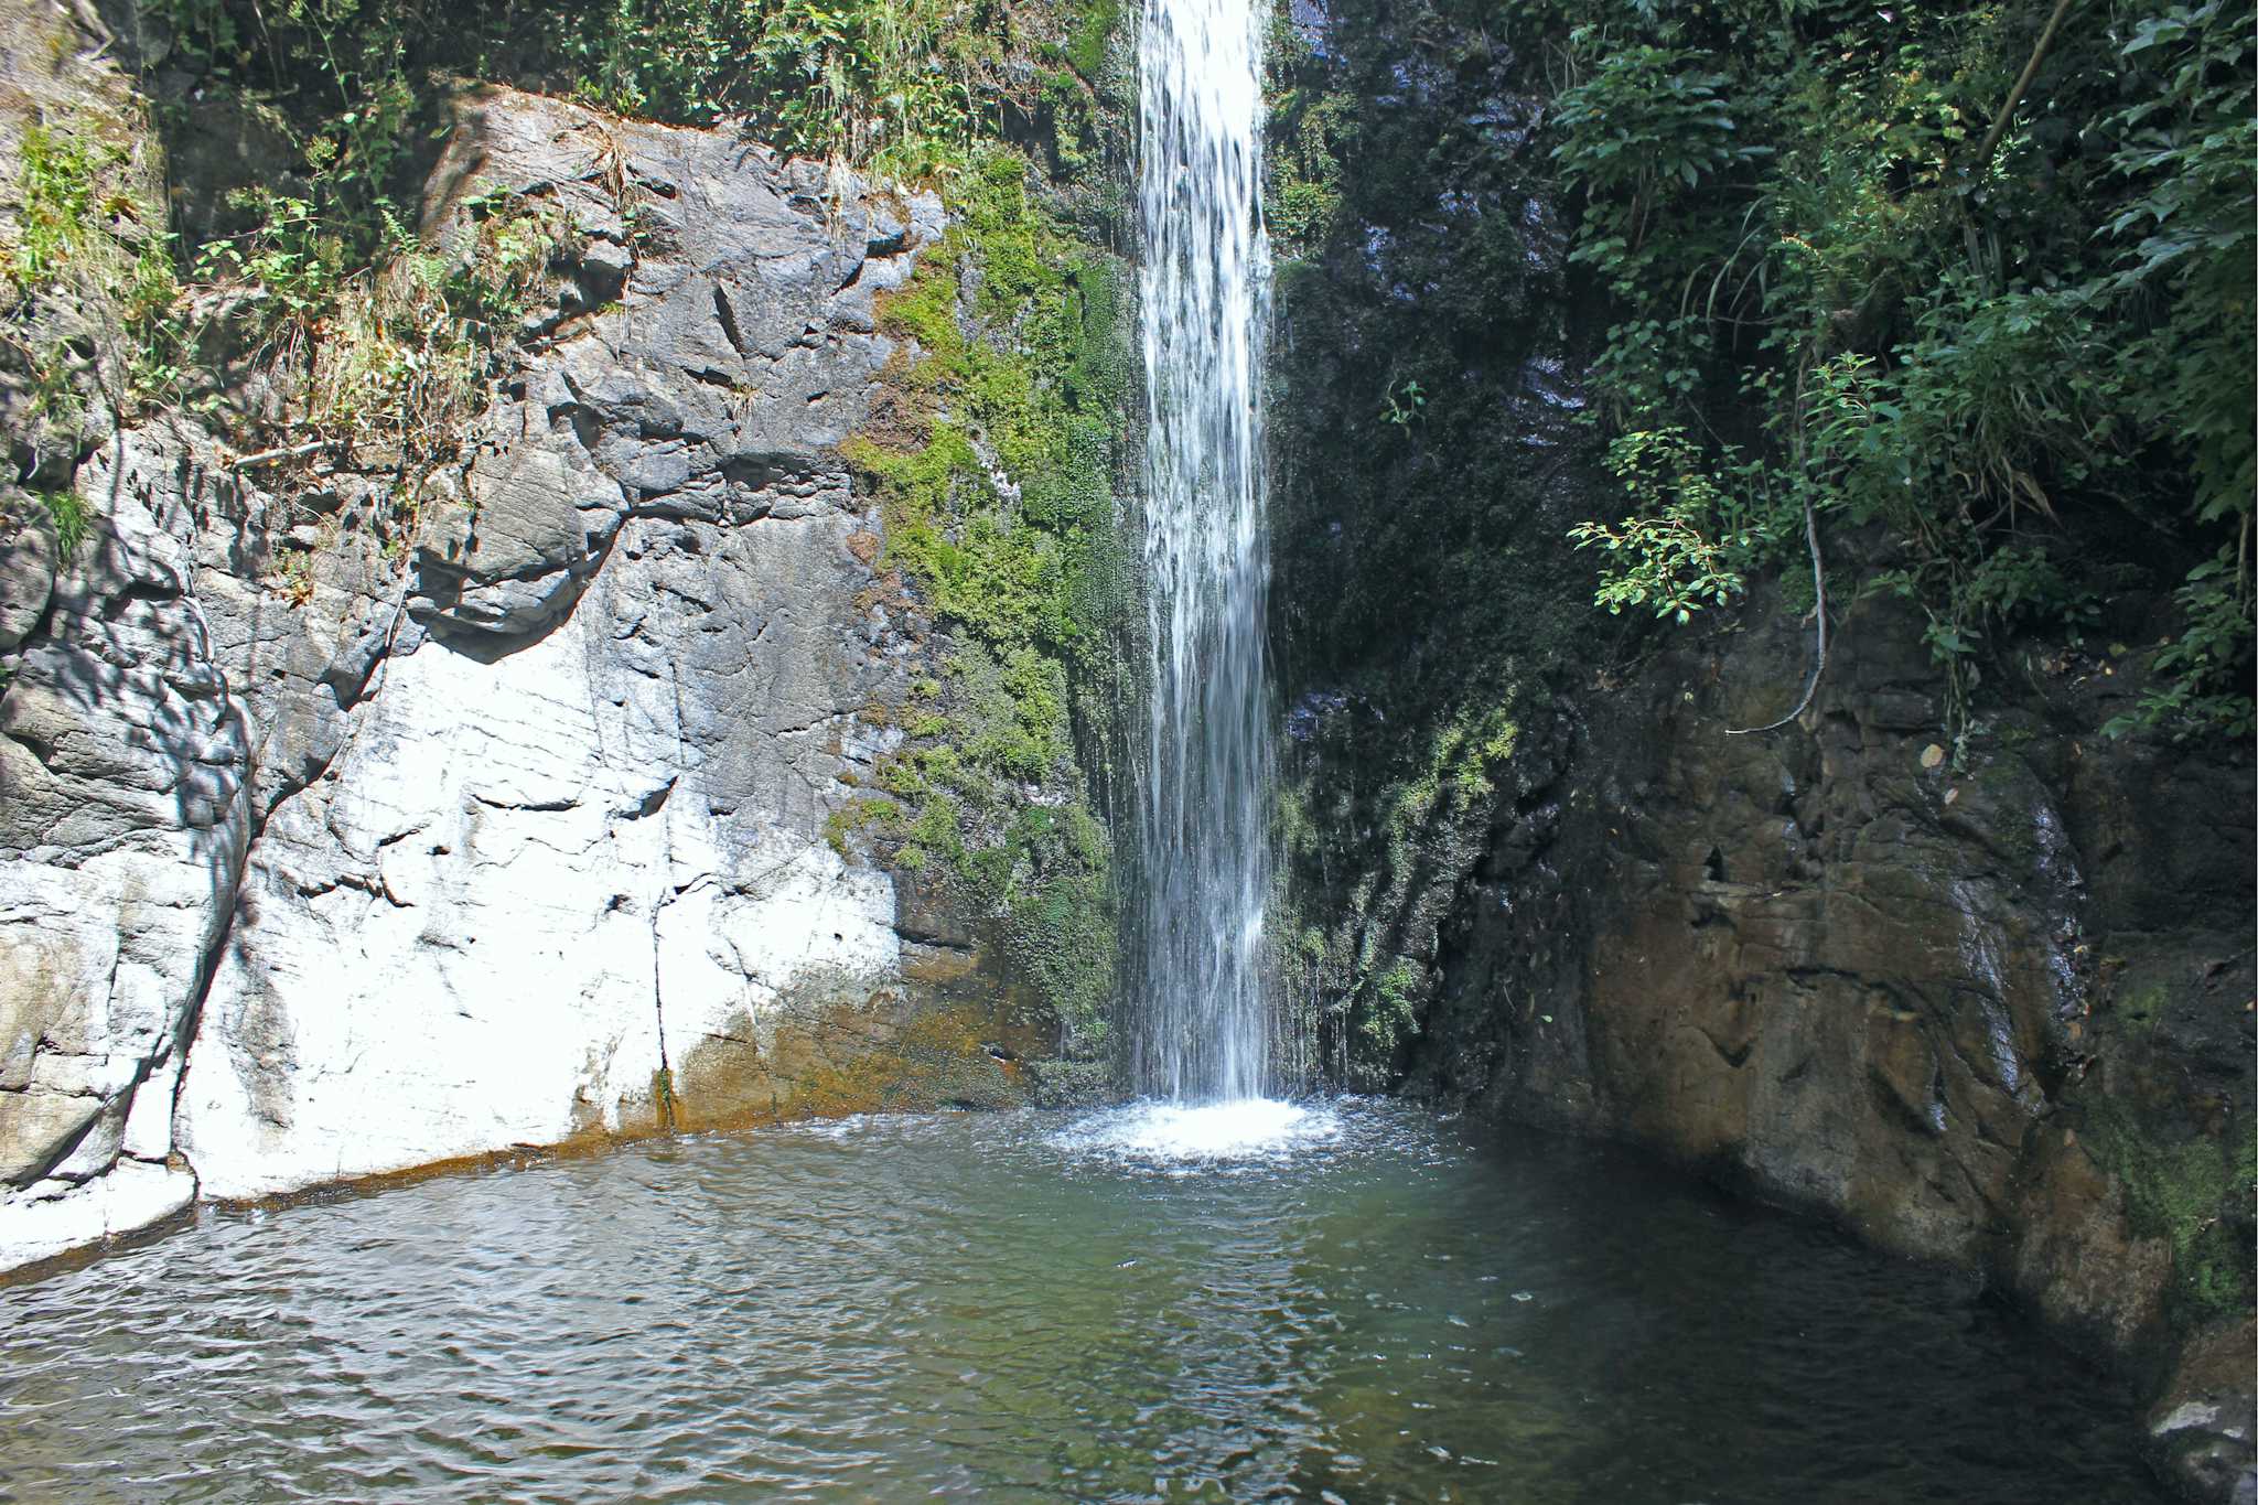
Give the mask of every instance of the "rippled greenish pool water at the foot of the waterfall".
[[1558, 1139], [874, 1117], [0, 1286], [0, 1494], [2156, 1500], [1949, 1282]]

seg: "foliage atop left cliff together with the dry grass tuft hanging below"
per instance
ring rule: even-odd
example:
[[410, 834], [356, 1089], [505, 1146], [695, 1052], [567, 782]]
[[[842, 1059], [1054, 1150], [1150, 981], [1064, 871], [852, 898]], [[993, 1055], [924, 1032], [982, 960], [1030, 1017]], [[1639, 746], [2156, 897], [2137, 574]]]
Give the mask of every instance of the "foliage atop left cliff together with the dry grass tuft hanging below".
[[[196, 275], [248, 296], [253, 338], [316, 438], [415, 460], [461, 417], [488, 352], [524, 309], [564, 226], [537, 205], [476, 205], [479, 244], [440, 262], [402, 226], [397, 169], [415, 149], [431, 65], [501, 54], [592, 102], [668, 120], [743, 115], [786, 149], [908, 178], [948, 178], [1003, 113], [1034, 108], [1027, 56], [1091, 14], [955, 0], [619, 0], [476, 5], [461, 16], [384, 0], [145, 0], [210, 86], [287, 131], [285, 181], [239, 192], [244, 228]], [[1079, 32], [1077, 32], [1079, 27]]]

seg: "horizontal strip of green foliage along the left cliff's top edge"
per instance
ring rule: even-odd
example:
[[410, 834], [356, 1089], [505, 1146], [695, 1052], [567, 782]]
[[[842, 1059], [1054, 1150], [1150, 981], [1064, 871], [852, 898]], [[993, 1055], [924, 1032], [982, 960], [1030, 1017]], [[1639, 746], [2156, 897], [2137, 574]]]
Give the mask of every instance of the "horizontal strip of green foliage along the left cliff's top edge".
[[382, 196], [411, 144], [427, 68], [515, 77], [680, 124], [741, 117], [784, 151], [942, 178], [1057, 86], [1034, 59], [1095, 77], [1115, 0], [142, 0], [212, 77], [296, 102], [316, 174]]

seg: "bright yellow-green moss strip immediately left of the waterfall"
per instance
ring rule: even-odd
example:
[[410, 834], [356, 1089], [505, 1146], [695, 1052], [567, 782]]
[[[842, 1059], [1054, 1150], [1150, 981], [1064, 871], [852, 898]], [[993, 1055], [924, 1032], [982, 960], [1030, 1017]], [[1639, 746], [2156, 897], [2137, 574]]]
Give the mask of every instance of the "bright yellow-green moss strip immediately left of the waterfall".
[[951, 228], [881, 300], [901, 341], [847, 458], [881, 589], [930, 621], [903, 740], [833, 817], [840, 851], [969, 907], [1061, 1031], [1106, 1049], [1120, 898], [1104, 821], [1136, 602], [1134, 307], [1122, 174], [1129, 29], [1077, 11], [1030, 135], [975, 147]]

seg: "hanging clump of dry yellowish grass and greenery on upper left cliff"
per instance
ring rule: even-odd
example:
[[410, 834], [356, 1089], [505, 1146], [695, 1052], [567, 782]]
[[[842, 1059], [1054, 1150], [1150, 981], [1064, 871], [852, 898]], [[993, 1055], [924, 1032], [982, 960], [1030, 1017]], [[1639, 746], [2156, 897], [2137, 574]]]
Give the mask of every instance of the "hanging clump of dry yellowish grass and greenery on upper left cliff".
[[[411, 485], [447, 454], [564, 239], [542, 208], [470, 205], [467, 244], [440, 255], [395, 190], [415, 149], [422, 50], [440, 18], [384, 0], [145, 0], [203, 72], [296, 151], [294, 171], [228, 196], [237, 230], [196, 248], [192, 289], [228, 309], [226, 359], [260, 368], [280, 404], [260, 417], [208, 399], [242, 447], [352, 445]], [[483, 16], [472, 14], [472, 32]], [[187, 298], [178, 300], [187, 307]], [[393, 528], [397, 537], [400, 528]]]

